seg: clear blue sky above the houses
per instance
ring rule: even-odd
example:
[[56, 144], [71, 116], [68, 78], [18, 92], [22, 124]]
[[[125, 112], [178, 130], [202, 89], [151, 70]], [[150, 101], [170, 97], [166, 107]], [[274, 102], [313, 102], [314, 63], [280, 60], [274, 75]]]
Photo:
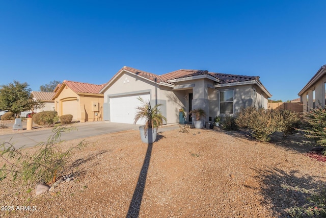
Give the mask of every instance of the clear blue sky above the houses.
[[[260, 76], [292, 100], [326, 64], [326, 1], [0, 1], [0, 85], [106, 83], [123, 66]], [[89, 76], [91, 75], [91, 76]]]

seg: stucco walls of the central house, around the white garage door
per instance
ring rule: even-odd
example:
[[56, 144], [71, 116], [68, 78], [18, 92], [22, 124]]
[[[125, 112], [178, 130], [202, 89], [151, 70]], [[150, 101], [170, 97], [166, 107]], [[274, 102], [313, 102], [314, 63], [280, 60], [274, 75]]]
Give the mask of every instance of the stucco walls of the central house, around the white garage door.
[[[214, 118], [220, 115], [219, 111], [219, 91], [232, 89], [234, 90], [234, 113], [242, 107], [254, 106], [253, 89], [256, 89], [257, 98], [256, 104], [267, 108], [267, 96], [264, 96], [263, 102], [261, 98], [262, 90], [256, 85], [240, 85], [220, 87], [214, 89], [214, 82], [209, 79], [197, 79], [175, 83], [181, 87], [179, 90], [172, 90], [172, 87], [159, 86], [144, 78], [137, 77], [128, 72], [121, 74], [112, 85], [104, 92], [104, 104], [108, 101], [108, 95], [121, 95], [123, 93], [138, 93], [141, 91], [150, 92], [150, 99], [157, 100], [157, 103], [166, 104], [166, 117], [168, 124], [179, 122], [179, 109], [185, 109], [186, 115], [189, 111], [188, 94], [193, 93], [193, 102], [196, 102], [196, 107], [203, 107], [206, 110], [206, 121], [209, 117]], [[182, 87], [185, 86], [184, 88]], [[195, 100], [195, 101], [194, 101]], [[193, 109], [197, 109], [194, 107]], [[205, 108], [205, 105], [207, 107]], [[108, 106], [107, 106], [108, 107]], [[104, 112], [105, 113], [105, 112]]]

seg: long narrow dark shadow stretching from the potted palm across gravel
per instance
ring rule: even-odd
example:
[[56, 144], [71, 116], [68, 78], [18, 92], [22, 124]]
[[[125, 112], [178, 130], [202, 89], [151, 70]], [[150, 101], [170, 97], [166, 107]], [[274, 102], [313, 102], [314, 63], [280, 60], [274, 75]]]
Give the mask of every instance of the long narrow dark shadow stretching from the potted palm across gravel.
[[149, 161], [151, 159], [151, 154], [152, 154], [152, 148], [153, 148], [153, 144], [148, 144], [144, 163], [138, 177], [137, 186], [133, 191], [133, 196], [129, 205], [128, 213], [126, 216], [127, 218], [139, 216], [139, 210], [142, 204], [147, 172], [149, 167]]

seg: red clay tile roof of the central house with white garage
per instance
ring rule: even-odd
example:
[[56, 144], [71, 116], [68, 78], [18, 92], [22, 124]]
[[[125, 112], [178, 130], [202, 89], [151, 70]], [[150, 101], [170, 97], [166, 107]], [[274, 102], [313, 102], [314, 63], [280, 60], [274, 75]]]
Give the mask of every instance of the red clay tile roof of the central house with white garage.
[[[159, 75], [152, 74], [150, 72], [142, 71], [142, 70], [135, 69], [132, 67], [127, 67], [127, 66], [122, 67], [111, 80], [113, 80], [121, 72], [121, 70], [127, 70], [129, 72], [132, 72], [135, 75], [144, 77], [144, 78], [149, 79], [156, 83], [164, 82], [164, 83], [171, 84], [171, 82], [169, 82], [169, 80], [193, 77], [193, 76], [200, 76], [200, 75], [209, 75], [211, 77], [219, 79], [220, 80], [219, 84], [259, 80], [259, 77], [257, 77], [257, 76], [220, 74], [218, 72], [209, 72], [207, 70], [196, 70], [196, 69], [179, 69], [179, 70], [176, 70], [173, 72], [169, 72], [168, 74], [159, 76]], [[108, 83], [110, 83], [111, 80]]]

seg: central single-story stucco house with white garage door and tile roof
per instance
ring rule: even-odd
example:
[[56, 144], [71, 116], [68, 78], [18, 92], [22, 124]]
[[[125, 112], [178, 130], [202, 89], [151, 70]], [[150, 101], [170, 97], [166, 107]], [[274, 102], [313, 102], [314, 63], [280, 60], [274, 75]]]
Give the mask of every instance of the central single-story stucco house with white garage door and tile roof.
[[[189, 111], [202, 108], [207, 117], [234, 114], [242, 107], [267, 108], [271, 94], [259, 77], [219, 74], [207, 70], [180, 69], [164, 75], [122, 67], [102, 88], [104, 94], [103, 118], [114, 123], [132, 124], [141, 96], [160, 110], [167, 123], [179, 122], [179, 109]], [[137, 124], [141, 124], [139, 122]], [[144, 123], [144, 122], [143, 122]]]

